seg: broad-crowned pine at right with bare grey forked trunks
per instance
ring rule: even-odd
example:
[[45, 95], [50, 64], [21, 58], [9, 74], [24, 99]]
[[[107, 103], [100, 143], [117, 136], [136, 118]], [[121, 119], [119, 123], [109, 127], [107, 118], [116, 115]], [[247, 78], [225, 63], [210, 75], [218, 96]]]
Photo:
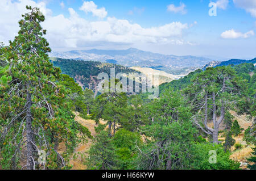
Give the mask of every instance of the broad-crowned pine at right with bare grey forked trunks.
[[[218, 131], [225, 112], [234, 107], [245, 89], [245, 81], [236, 75], [233, 68], [220, 66], [199, 73], [184, 90], [195, 113], [193, 123], [210, 135], [214, 143], [219, 143]], [[208, 127], [208, 119], [212, 121], [213, 128]]]

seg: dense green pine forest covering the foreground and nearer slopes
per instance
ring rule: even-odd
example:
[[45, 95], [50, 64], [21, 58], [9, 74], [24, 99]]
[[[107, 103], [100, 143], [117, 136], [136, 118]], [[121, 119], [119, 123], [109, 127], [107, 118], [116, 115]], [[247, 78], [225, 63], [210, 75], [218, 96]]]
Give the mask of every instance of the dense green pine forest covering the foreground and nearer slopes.
[[[44, 16], [27, 10], [18, 35], [0, 47], [0, 169], [72, 169], [77, 146], [88, 140], [86, 169], [239, 169], [230, 155], [242, 147], [240, 134], [255, 154], [253, 64], [196, 70], [160, 85], [159, 98], [150, 101], [123, 92], [94, 98], [72, 77], [96, 75], [102, 64], [55, 60], [53, 66]], [[106, 65], [105, 71], [113, 66]], [[246, 130], [232, 111], [247, 115]], [[94, 136], [77, 115], [95, 121]], [[247, 160], [255, 169], [255, 157]]]

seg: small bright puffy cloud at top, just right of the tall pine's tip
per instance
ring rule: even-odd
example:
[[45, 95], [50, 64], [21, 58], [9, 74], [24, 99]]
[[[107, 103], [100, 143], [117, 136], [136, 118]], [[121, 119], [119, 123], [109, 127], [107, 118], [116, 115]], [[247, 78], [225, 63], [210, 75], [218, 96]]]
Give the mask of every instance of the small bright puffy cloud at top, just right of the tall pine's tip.
[[88, 12], [92, 12], [93, 16], [97, 16], [98, 18], [105, 18], [106, 15], [108, 15], [108, 12], [105, 10], [105, 7], [97, 9], [97, 5], [95, 5], [93, 1], [85, 1], [80, 7], [80, 10], [86, 12], [86, 14]]

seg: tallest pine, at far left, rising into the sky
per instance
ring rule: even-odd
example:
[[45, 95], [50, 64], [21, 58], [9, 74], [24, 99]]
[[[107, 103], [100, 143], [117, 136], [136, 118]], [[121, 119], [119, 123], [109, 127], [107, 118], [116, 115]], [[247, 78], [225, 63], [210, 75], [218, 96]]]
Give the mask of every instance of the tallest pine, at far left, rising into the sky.
[[[13, 169], [67, 168], [67, 154], [58, 152], [59, 142], [68, 151], [85, 140], [88, 132], [78, 124], [66, 102], [65, 87], [60, 85], [60, 69], [49, 61], [51, 49], [44, 39], [40, 23], [44, 16], [38, 8], [22, 15], [20, 30], [10, 41], [1, 70], [0, 136], [2, 166]], [[38, 161], [39, 151], [46, 151], [46, 164]], [[42, 163], [42, 164], [41, 164]]]

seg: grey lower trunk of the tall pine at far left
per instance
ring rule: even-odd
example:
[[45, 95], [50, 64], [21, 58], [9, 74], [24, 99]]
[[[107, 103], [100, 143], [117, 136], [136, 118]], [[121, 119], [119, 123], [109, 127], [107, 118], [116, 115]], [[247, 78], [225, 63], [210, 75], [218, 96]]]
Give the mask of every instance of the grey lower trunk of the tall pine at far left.
[[27, 131], [27, 169], [34, 169], [33, 162], [33, 132], [32, 132], [32, 114], [31, 114], [31, 93], [27, 94], [27, 118], [26, 118], [26, 131]]

